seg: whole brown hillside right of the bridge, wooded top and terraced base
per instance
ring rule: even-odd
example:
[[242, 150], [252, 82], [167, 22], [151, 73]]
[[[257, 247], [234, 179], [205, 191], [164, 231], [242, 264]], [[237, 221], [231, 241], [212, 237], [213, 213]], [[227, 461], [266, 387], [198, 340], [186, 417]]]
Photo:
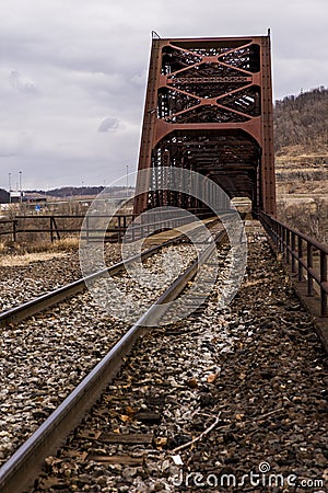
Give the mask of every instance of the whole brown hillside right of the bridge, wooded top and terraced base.
[[328, 89], [276, 101], [278, 217], [328, 242]]

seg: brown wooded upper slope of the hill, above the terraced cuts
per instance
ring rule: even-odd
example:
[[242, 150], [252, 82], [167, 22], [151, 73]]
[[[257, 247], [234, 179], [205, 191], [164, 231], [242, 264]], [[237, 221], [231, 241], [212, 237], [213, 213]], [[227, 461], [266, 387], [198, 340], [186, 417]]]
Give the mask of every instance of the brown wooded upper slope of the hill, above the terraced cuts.
[[276, 101], [273, 128], [277, 156], [328, 153], [328, 89]]

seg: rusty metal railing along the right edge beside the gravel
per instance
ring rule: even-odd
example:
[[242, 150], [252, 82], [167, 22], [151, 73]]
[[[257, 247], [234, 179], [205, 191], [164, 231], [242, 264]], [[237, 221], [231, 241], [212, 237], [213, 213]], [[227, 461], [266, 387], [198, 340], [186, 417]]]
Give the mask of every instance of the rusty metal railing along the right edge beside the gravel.
[[300, 283], [307, 283], [307, 296], [314, 296], [314, 283], [318, 285], [320, 314], [328, 317], [328, 246], [290, 228], [268, 214], [260, 213], [259, 217], [277, 250], [283, 255], [285, 263], [291, 266], [292, 273], [296, 274]]

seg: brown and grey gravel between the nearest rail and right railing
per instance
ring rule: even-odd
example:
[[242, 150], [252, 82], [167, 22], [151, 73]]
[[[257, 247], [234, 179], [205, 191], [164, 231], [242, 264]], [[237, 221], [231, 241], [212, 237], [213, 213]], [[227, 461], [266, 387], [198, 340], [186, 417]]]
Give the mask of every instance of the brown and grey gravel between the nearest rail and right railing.
[[262, 239], [229, 308], [139, 341], [33, 492], [327, 491], [327, 356]]

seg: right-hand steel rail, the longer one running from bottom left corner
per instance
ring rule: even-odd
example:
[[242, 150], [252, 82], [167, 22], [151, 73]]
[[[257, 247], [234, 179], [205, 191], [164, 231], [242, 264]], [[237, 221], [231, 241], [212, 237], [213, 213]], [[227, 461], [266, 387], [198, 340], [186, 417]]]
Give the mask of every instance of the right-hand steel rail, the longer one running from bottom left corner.
[[57, 410], [3, 465], [0, 469], [1, 493], [22, 493], [32, 483], [39, 473], [44, 459], [54, 454], [63, 443], [67, 435], [80, 423], [82, 416], [99, 398], [110, 379], [117, 375], [124, 358], [139, 336], [150, 330], [149, 325], [157, 323], [159, 318], [167, 309], [164, 303], [178, 297], [197, 273], [198, 266], [203, 264], [216, 248], [216, 242], [223, 242], [225, 237], [225, 231], [216, 234], [214, 241], [211, 241], [199, 259], [160, 296]]

